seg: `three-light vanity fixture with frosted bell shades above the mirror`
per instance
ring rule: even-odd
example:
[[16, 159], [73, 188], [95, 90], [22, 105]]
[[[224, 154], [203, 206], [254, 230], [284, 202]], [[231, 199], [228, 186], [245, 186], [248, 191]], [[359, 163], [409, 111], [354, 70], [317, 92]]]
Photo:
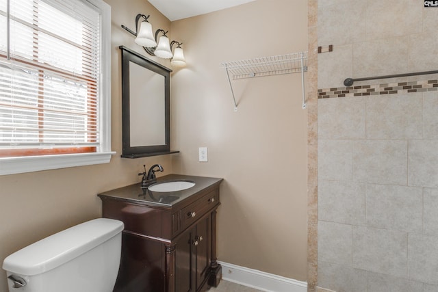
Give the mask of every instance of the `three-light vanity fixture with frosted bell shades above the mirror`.
[[[138, 27], [138, 22], [140, 19], [143, 21], [140, 23], [140, 27]], [[183, 67], [185, 66], [185, 58], [183, 49], [181, 48], [182, 42], [177, 42], [176, 40], [172, 40], [169, 42], [169, 38], [166, 36], [168, 31], [164, 31], [164, 29], [157, 29], [155, 31], [155, 37], [152, 30], [152, 25], [148, 21], [149, 15], [146, 16], [144, 14], [137, 14], [136, 16], [136, 31], [132, 31], [131, 29], [122, 25], [122, 28], [128, 31], [130, 34], [136, 36], [136, 44], [139, 44], [143, 47], [144, 51], [149, 53], [149, 55], [157, 56], [162, 59], [170, 59], [170, 64], [175, 67]], [[159, 34], [162, 34], [159, 36]], [[158, 39], [159, 36], [159, 39]], [[157, 44], [158, 39], [158, 44]], [[173, 46], [177, 44], [175, 48], [175, 53], [172, 53]]]

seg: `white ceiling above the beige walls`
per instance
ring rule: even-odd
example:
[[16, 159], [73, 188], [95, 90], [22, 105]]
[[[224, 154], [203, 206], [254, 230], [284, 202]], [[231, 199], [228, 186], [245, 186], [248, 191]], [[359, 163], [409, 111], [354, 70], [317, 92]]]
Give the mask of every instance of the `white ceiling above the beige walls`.
[[206, 14], [255, 0], [148, 0], [170, 21]]

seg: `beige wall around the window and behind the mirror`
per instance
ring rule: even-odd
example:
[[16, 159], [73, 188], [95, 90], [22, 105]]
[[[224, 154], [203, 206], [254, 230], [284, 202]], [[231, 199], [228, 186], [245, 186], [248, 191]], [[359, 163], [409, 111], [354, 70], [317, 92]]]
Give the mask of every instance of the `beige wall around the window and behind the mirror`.
[[[0, 263], [25, 245], [64, 228], [101, 216], [101, 191], [140, 181], [138, 172], [161, 163], [164, 174], [172, 173], [172, 155], [122, 159], [120, 44], [142, 51], [133, 36], [122, 29], [135, 29], [138, 12], [151, 14], [154, 27], [169, 28], [170, 22], [149, 2], [107, 0], [112, 6], [112, 150], [110, 163], [29, 174], [0, 176]], [[6, 274], [0, 272], [0, 291], [7, 291]]]

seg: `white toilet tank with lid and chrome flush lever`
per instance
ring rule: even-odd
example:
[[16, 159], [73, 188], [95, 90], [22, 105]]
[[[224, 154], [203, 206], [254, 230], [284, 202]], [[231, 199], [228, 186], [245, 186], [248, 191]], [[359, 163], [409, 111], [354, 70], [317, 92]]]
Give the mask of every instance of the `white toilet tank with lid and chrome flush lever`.
[[44, 238], [3, 261], [10, 292], [111, 292], [116, 283], [122, 230], [99, 218]]

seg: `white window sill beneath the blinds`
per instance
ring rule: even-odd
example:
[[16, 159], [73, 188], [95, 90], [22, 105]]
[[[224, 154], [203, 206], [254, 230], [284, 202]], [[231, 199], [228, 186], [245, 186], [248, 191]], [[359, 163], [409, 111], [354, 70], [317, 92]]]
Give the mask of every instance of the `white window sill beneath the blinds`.
[[0, 175], [109, 163], [111, 156], [115, 154], [116, 152], [99, 152], [68, 155], [1, 157]]

